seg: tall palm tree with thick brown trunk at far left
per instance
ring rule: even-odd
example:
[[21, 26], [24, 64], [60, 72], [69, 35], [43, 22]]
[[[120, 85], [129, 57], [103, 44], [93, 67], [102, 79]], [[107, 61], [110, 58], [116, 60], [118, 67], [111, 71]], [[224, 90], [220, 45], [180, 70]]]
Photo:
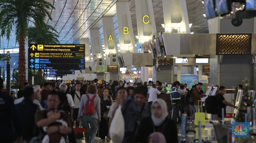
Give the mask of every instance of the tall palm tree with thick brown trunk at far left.
[[38, 28], [38, 34], [45, 25], [44, 20], [48, 16], [50, 20], [50, 10], [52, 4], [45, 0], [0, 0], [0, 36], [11, 37], [11, 32], [15, 29], [16, 42], [19, 42], [19, 71], [18, 83], [26, 82], [25, 68], [25, 38], [27, 36], [28, 22], [34, 22]]

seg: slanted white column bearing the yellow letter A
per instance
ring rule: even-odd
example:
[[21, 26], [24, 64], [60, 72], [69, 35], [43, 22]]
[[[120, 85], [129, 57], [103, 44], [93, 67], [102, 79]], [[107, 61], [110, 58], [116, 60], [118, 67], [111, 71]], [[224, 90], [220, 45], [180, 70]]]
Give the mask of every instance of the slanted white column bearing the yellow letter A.
[[[118, 54], [113, 17], [103, 17], [102, 23], [103, 23], [106, 63], [107, 65], [113, 65], [112, 63], [109, 62], [109, 58], [108, 58], [109, 54]], [[118, 65], [118, 62], [116, 63]]]

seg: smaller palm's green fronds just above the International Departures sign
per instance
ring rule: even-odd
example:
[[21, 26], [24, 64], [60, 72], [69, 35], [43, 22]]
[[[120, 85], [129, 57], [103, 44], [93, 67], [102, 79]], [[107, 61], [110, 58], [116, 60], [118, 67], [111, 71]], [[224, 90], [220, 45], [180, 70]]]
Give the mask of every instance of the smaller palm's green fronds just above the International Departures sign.
[[41, 29], [42, 34], [38, 34], [38, 28], [36, 26], [28, 27], [27, 35], [28, 35], [28, 42], [35, 42], [39, 44], [47, 43], [47, 44], [58, 44], [60, 41], [58, 40], [59, 35], [52, 26], [44, 25], [44, 28]]

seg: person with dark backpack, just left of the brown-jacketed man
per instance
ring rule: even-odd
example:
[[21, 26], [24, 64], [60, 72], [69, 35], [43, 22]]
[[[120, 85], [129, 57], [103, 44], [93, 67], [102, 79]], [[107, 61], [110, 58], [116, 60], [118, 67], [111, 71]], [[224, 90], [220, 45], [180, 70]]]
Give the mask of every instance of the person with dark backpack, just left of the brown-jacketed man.
[[195, 120], [195, 112], [196, 112], [196, 107], [194, 106], [194, 99], [193, 99], [193, 92], [196, 89], [196, 85], [192, 86], [192, 89], [190, 89], [185, 97], [185, 103], [189, 105], [190, 108], [190, 124], [195, 125], [194, 120]]

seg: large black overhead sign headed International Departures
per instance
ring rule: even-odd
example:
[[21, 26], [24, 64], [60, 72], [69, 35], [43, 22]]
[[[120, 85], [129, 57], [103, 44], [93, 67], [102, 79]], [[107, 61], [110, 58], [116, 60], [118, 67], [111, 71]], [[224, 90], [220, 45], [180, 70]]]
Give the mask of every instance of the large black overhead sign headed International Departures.
[[30, 69], [85, 69], [84, 44], [29, 44]]

